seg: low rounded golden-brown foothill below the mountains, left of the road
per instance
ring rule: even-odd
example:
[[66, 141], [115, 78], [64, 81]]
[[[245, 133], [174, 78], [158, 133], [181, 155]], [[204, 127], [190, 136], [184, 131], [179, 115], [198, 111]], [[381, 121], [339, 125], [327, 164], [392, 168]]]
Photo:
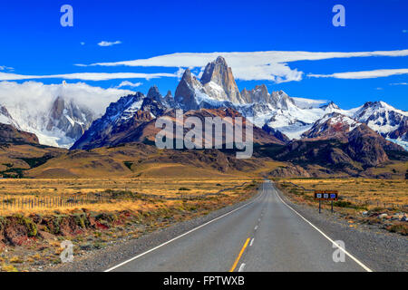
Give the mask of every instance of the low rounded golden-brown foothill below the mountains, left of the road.
[[255, 176], [273, 168], [269, 158], [238, 160], [220, 150], [159, 150], [128, 142], [116, 147], [70, 150], [27, 171], [31, 178], [194, 178]]

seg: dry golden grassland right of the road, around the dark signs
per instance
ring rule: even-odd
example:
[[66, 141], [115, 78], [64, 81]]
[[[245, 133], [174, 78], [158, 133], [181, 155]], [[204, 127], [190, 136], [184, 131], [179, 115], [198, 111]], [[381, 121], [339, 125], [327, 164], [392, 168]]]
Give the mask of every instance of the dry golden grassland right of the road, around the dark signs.
[[[292, 184], [292, 183], [293, 184]], [[370, 225], [403, 236], [408, 235], [408, 180], [406, 179], [279, 179], [277, 186], [299, 204], [318, 208], [313, 190], [338, 190], [334, 210], [349, 227]], [[302, 189], [302, 187], [304, 189]], [[322, 202], [322, 208], [331, 208]]]

